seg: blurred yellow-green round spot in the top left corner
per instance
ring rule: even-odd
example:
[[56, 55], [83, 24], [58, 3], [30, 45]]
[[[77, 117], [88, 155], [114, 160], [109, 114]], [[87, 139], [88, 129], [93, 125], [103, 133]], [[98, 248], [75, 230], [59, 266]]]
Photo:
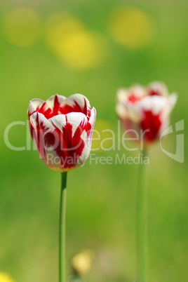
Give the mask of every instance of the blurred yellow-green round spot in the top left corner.
[[41, 29], [39, 13], [30, 8], [15, 8], [4, 21], [8, 40], [16, 46], [29, 46], [36, 42]]

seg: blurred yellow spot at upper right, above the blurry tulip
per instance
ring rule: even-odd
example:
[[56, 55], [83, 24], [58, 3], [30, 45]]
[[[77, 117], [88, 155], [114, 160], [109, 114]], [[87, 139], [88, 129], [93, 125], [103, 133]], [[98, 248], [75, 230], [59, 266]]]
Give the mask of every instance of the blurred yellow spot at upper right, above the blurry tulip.
[[154, 23], [145, 12], [134, 7], [119, 7], [109, 17], [109, 32], [119, 43], [140, 48], [152, 41]]

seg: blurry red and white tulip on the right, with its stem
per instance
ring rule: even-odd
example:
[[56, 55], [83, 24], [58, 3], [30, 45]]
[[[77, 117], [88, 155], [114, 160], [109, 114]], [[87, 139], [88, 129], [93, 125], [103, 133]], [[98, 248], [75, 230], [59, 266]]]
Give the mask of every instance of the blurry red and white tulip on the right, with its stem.
[[[133, 85], [117, 93], [116, 114], [126, 133], [140, 143], [145, 158], [147, 145], [168, 127], [177, 95], [169, 95], [164, 83]], [[147, 282], [147, 190], [144, 165], [140, 163], [137, 187], [137, 282]]]

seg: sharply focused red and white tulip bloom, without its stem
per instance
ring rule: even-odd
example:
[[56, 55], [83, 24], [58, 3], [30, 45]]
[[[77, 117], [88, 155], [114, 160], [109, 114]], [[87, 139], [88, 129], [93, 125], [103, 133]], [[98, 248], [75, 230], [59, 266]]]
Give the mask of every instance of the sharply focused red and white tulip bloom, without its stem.
[[28, 116], [32, 140], [46, 166], [64, 172], [85, 163], [96, 117], [86, 97], [56, 94], [46, 102], [33, 99]]

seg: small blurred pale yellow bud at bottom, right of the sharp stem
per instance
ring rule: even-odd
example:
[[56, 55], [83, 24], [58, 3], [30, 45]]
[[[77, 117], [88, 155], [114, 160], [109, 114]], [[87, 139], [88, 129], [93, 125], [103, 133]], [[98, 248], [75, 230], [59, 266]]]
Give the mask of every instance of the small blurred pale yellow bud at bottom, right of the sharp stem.
[[74, 255], [72, 259], [72, 267], [76, 274], [83, 275], [90, 271], [93, 260], [92, 250], [83, 250], [82, 252]]

